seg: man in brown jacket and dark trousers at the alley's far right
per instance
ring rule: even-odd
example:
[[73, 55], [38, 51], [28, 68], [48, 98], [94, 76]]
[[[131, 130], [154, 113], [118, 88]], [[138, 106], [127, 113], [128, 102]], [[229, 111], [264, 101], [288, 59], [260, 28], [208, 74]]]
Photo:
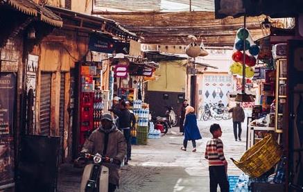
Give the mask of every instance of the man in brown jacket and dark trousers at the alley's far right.
[[[241, 141], [241, 132], [242, 132], [241, 123], [243, 123], [245, 119], [243, 107], [241, 107], [240, 103], [237, 102], [236, 107], [232, 107], [232, 109], [228, 110], [228, 112], [232, 112], [232, 123], [234, 126], [234, 140], [237, 141], [239, 139], [239, 141]], [[239, 128], [239, 132], [237, 134], [238, 128]]]

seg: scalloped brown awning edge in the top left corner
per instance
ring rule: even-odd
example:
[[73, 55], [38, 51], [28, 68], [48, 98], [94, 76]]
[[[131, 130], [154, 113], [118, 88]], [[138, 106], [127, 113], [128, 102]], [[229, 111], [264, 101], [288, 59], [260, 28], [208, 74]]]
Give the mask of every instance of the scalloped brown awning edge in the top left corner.
[[31, 0], [1, 0], [1, 2], [3, 2], [3, 5], [8, 5], [26, 15], [38, 17], [46, 24], [56, 27], [62, 27], [63, 25], [61, 17]]

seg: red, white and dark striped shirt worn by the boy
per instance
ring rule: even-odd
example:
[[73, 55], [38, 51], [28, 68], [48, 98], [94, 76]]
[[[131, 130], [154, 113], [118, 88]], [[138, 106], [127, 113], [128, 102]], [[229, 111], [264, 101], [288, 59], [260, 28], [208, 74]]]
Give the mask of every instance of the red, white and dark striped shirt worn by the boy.
[[205, 159], [208, 159], [209, 166], [224, 166], [227, 164], [221, 139], [212, 138], [207, 141]]

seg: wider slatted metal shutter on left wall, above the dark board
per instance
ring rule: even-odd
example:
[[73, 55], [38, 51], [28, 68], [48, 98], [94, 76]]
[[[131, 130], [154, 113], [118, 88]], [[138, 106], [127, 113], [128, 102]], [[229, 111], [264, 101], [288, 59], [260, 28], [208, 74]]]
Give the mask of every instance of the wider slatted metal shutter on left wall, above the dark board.
[[40, 87], [40, 134], [49, 136], [51, 121], [51, 73], [41, 73]]

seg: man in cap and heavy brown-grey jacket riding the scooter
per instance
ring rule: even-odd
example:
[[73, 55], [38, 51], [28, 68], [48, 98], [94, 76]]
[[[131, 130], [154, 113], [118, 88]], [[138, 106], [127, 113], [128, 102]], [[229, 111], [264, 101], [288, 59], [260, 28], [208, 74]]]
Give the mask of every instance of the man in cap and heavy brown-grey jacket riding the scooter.
[[114, 159], [116, 164], [103, 164], [109, 168], [108, 191], [112, 192], [119, 186], [120, 166], [126, 154], [126, 142], [123, 133], [114, 125], [114, 118], [110, 113], [101, 116], [101, 126], [92, 132], [85, 141], [81, 153], [99, 153], [104, 157]]

